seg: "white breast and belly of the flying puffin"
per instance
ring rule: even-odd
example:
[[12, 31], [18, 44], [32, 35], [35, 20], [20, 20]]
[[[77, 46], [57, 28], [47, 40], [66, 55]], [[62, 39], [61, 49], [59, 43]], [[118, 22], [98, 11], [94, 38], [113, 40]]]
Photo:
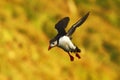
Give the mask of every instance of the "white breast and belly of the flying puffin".
[[63, 48], [65, 51], [71, 51], [76, 48], [68, 36], [63, 36], [59, 39], [59, 47]]

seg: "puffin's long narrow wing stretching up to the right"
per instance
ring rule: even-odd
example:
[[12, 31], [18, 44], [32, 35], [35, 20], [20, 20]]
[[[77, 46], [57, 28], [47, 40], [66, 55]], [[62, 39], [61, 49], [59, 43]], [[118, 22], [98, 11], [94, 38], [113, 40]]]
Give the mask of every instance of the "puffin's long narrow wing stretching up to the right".
[[85, 22], [88, 15], [89, 15], [89, 12], [85, 16], [83, 16], [80, 20], [78, 20], [75, 24], [73, 24], [72, 27], [68, 30], [66, 35], [71, 36], [75, 31], [75, 29]]

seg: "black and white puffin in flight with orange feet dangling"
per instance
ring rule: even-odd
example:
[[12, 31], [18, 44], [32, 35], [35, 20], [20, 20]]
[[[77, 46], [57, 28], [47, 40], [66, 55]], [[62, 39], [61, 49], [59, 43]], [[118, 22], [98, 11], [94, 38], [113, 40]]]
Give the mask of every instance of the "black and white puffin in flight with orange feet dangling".
[[85, 22], [89, 15], [89, 12], [85, 14], [80, 20], [78, 20], [75, 24], [72, 25], [72, 27], [68, 30], [68, 32], [65, 31], [65, 28], [68, 25], [69, 17], [65, 17], [61, 19], [56, 25], [55, 29], [57, 29], [58, 34], [49, 41], [49, 47], [48, 50], [51, 48], [57, 46], [62, 48], [64, 51], [68, 53], [70, 56], [70, 60], [73, 61], [74, 57], [70, 54], [70, 52], [74, 52], [76, 57], [80, 58], [80, 55], [78, 54], [81, 52], [81, 50], [72, 43], [71, 41], [71, 35], [74, 33], [77, 27], [79, 27], [81, 24]]

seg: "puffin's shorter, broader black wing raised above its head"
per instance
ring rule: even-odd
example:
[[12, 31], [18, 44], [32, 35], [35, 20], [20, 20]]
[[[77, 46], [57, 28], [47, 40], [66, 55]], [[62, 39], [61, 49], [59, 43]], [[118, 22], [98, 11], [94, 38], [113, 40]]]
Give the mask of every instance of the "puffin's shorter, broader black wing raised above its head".
[[65, 28], [67, 27], [69, 20], [69, 17], [65, 17], [55, 25], [55, 28], [57, 29], [59, 35], [66, 34]]

